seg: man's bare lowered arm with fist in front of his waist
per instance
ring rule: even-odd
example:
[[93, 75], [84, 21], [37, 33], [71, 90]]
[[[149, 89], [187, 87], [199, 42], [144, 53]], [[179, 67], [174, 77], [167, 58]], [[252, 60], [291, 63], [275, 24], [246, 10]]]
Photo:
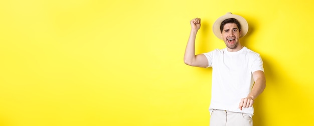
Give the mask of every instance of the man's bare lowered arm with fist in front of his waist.
[[246, 98], [242, 98], [239, 104], [239, 108], [242, 110], [242, 107], [252, 107], [254, 103], [254, 99], [261, 94], [265, 87], [265, 75], [263, 71], [255, 71], [253, 72], [253, 79], [255, 81], [252, 91], [249, 93], [249, 95]]

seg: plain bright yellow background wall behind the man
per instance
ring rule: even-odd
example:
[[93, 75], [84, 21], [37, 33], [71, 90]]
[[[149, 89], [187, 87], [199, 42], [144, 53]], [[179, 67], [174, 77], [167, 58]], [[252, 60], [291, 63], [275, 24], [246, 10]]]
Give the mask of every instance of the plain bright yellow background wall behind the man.
[[260, 53], [256, 126], [314, 125], [314, 2], [12, 0], [0, 2], [0, 125], [209, 125], [211, 68], [184, 64], [232, 12]]

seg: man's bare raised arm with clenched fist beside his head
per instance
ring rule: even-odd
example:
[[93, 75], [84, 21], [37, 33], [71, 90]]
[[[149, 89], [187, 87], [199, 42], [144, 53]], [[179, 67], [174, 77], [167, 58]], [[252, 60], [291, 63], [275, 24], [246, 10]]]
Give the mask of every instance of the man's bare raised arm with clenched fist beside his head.
[[201, 19], [195, 18], [190, 21], [191, 32], [188, 44], [184, 54], [184, 63], [190, 66], [204, 67], [208, 66], [208, 60], [204, 54], [195, 55], [195, 39], [198, 30], [201, 28]]

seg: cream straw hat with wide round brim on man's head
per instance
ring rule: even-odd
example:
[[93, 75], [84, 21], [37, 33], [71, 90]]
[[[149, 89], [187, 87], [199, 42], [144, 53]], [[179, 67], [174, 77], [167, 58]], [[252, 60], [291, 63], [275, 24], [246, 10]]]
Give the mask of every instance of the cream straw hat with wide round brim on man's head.
[[213, 25], [213, 32], [217, 38], [223, 40], [223, 38], [221, 37], [220, 25], [224, 20], [230, 19], [230, 18], [234, 18], [238, 20], [238, 22], [240, 23], [241, 25], [240, 38], [245, 36], [246, 33], [248, 32], [249, 25], [247, 24], [246, 20], [243, 17], [238, 16], [238, 15], [233, 15], [232, 13], [227, 13], [226, 15], [219, 17]]

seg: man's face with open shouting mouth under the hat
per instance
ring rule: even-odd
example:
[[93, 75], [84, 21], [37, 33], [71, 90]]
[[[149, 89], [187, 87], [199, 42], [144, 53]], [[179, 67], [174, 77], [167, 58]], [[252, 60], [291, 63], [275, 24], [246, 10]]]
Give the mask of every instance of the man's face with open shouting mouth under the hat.
[[239, 31], [236, 24], [228, 23], [224, 26], [221, 36], [228, 48], [228, 51], [238, 51], [242, 49], [239, 42], [240, 35], [241, 31]]

